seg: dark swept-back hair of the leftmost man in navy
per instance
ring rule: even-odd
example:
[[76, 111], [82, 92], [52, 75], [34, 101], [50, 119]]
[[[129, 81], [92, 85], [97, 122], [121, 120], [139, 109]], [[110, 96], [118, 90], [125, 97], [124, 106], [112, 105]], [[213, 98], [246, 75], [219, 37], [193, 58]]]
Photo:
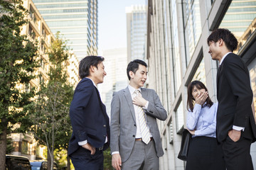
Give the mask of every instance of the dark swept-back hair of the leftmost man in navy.
[[90, 67], [95, 66], [97, 68], [97, 65], [100, 64], [100, 62], [104, 61], [104, 57], [90, 55], [87, 57], [84, 57], [79, 62], [79, 77], [80, 79], [83, 79], [90, 75]]

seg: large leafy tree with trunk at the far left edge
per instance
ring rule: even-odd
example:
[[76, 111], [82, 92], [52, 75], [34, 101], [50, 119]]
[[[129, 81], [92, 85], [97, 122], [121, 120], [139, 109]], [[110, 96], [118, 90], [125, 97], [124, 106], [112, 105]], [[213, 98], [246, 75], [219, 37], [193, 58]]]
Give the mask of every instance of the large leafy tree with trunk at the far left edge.
[[[0, 170], [5, 169], [6, 135], [25, 132], [34, 91], [25, 91], [39, 67], [37, 46], [21, 35], [28, 11], [21, 0], [0, 1]], [[14, 126], [15, 125], [15, 126]]]

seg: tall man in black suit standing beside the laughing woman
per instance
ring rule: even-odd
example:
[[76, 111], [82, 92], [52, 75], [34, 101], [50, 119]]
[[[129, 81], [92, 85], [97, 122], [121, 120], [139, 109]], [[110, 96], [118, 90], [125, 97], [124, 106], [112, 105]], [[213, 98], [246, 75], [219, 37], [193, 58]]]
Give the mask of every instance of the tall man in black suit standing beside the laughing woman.
[[217, 139], [228, 170], [253, 169], [250, 145], [256, 140], [252, 89], [247, 66], [233, 54], [238, 40], [227, 29], [217, 29], [207, 39], [209, 53], [220, 62], [217, 74]]

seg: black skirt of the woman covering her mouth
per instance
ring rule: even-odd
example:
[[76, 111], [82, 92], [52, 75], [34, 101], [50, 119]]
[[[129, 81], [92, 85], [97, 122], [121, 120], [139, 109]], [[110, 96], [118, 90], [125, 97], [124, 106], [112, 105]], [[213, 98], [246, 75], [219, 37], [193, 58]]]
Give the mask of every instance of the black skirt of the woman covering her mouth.
[[225, 170], [223, 151], [215, 137], [194, 137], [191, 140], [186, 170]]

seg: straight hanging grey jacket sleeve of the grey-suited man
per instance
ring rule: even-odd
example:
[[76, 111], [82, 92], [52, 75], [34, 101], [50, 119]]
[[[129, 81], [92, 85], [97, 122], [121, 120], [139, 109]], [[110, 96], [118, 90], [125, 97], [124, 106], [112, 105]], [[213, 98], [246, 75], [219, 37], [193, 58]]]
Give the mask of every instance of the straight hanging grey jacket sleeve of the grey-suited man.
[[119, 152], [120, 101], [116, 92], [111, 101], [110, 148], [111, 152]]

